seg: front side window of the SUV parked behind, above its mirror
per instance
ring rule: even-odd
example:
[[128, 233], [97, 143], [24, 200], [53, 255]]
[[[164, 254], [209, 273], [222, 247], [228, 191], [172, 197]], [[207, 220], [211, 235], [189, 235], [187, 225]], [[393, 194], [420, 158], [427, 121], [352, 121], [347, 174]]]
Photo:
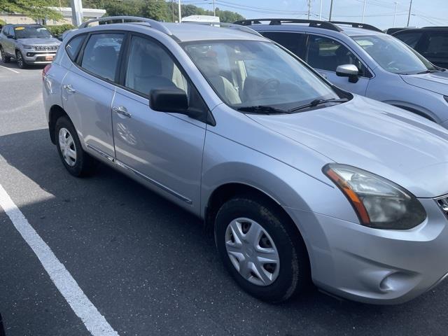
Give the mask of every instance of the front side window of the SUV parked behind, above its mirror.
[[332, 38], [309, 35], [305, 59], [315, 69], [336, 71], [339, 65], [354, 64], [360, 70], [361, 76], [368, 74], [358, 57]]

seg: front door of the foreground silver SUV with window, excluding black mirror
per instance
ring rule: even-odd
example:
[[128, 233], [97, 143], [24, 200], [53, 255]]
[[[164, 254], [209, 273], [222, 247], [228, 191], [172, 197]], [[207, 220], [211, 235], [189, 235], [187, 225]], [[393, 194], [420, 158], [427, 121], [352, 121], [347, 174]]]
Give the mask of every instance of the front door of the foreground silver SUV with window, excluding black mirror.
[[[197, 90], [158, 41], [133, 35], [113, 99], [113, 139], [118, 165], [177, 204], [200, 211], [206, 124], [179, 113], [153, 111], [149, 92], [180, 88], [190, 106], [207, 113]], [[193, 209], [192, 209], [193, 207]]]

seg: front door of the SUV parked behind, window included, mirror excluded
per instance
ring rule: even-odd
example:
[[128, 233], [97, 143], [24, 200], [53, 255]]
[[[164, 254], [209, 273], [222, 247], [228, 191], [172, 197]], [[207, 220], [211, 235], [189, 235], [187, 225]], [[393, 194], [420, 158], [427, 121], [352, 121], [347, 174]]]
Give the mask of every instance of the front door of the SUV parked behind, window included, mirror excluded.
[[[365, 95], [372, 74], [356, 56], [355, 52], [349, 50], [341, 42], [328, 36], [308, 34], [304, 60], [330, 80], [332, 84], [341, 87], [343, 90]], [[358, 68], [359, 76], [356, 83], [353, 83], [347, 77], [337, 76], [337, 66], [344, 64], [354, 64]]]

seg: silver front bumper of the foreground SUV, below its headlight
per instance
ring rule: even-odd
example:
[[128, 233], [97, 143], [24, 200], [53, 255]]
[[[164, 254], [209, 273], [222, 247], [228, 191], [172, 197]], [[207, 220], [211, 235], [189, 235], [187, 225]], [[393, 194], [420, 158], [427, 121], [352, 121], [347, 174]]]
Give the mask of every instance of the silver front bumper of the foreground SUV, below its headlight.
[[377, 230], [310, 211], [288, 209], [307, 244], [316, 286], [360, 302], [398, 304], [448, 274], [448, 221], [433, 199], [412, 230]]

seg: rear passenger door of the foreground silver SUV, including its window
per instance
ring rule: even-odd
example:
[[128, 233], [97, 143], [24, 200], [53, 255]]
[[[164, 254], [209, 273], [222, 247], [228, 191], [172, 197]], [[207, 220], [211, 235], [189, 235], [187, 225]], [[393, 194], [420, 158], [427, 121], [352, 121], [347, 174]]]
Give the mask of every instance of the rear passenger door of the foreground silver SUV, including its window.
[[90, 34], [76, 66], [64, 78], [64, 109], [87, 151], [113, 160], [111, 103], [115, 93], [123, 32]]

